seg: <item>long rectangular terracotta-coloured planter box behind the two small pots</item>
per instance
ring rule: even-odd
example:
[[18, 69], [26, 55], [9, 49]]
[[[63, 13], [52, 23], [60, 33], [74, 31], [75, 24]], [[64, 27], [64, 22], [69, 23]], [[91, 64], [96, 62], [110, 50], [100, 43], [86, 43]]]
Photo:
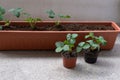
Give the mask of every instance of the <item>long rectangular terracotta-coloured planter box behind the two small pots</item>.
[[[104, 36], [108, 41], [107, 46], [102, 49], [112, 49], [117, 37], [120, 32], [120, 28], [114, 22], [63, 22], [76, 23], [76, 24], [106, 24], [111, 25], [115, 30], [107, 31], [0, 31], [0, 50], [50, 50], [55, 49], [55, 42], [62, 41], [65, 39], [67, 33], [78, 33], [79, 37], [77, 41], [83, 40], [84, 35], [89, 32], [94, 32], [95, 35]], [[4, 22], [0, 22], [4, 24]], [[38, 26], [46, 24], [54, 25], [54, 22], [38, 22]], [[27, 22], [11, 22], [11, 25], [29, 25]]]

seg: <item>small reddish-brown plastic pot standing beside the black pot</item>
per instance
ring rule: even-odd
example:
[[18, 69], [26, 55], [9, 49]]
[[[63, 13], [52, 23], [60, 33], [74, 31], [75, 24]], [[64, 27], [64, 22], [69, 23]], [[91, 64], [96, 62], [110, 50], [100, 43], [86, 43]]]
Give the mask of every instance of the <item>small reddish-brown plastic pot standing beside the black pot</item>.
[[63, 57], [63, 65], [66, 68], [74, 68], [76, 66], [77, 57], [66, 58]]

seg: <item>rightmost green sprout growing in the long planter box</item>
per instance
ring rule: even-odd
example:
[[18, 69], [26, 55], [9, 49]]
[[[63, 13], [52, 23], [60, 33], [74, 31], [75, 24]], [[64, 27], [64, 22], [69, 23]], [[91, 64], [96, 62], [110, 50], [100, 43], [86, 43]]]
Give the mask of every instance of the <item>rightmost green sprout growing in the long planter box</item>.
[[62, 14], [56, 14], [53, 10], [47, 11], [48, 17], [51, 19], [57, 18], [58, 20], [55, 21], [55, 25], [59, 26], [61, 19], [68, 19], [71, 18], [69, 15], [62, 15]]

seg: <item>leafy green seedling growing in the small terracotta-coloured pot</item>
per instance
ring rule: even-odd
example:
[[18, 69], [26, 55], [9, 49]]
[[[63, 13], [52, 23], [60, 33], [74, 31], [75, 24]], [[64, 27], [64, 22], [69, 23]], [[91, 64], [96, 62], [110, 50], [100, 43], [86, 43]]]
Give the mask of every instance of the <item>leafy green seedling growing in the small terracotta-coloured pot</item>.
[[67, 34], [65, 41], [58, 41], [55, 43], [55, 52], [72, 52], [75, 47], [77, 37], [78, 34]]

